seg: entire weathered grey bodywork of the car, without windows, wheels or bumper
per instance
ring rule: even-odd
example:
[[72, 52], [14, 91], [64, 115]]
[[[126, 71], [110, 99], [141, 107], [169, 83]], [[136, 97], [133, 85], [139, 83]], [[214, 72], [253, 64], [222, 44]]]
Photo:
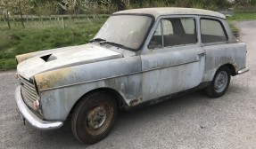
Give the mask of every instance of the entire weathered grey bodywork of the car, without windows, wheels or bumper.
[[[219, 67], [225, 65], [233, 66], [235, 75], [246, 72], [246, 46], [237, 43], [225, 16], [218, 12], [154, 8], [114, 15], [127, 13], [155, 17], [140, 51], [96, 42], [16, 57], [18, 74], [35, 85], [44, 120], [64, 122], [76, 103], [95, 90], [114, 90], [120, 97], [120, 106], [129, 109], [211, 82]], [[157, 24], [165, 18], [180, 17], [194, 18], [197, 43], [149, 49]], [[201, 18], [221, 22], [227, 41], [202, 43]]]

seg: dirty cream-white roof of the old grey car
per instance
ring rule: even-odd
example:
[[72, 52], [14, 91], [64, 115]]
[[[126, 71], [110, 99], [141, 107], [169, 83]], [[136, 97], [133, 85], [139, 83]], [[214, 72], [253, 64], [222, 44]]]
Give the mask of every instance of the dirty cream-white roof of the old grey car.
[[213, 12], [208, 10], [202, 9], [195, 9], [195, 8], [181, 8], [181, 7], [156, 7], [156, 8], [140, 8], [140, 9], [130, 9], [120, 12], [114, 12], [113, 14], [149, 14], [153, 15], [155, 19], [157, 19], [161, 15], [178, 15], [178, 14], [195, 14], [195, 15], [206, 15], [206, 16], [213, 16], [218, 17], [221, 19], [226, 19], [225, 15], [219, 12]]

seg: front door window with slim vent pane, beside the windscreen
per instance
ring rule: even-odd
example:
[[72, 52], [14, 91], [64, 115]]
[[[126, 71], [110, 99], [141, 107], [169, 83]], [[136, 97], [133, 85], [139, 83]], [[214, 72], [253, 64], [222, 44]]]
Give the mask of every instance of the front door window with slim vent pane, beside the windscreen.
[[157, 49], [191, 43], [197, 43], [195, 20], [193, 18], [171, 18], [161, 20], [148, 48]]

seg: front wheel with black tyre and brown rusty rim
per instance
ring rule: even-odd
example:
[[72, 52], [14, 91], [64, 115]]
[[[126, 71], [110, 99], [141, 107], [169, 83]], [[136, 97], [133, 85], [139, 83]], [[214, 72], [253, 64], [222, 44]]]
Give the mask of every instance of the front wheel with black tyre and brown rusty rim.
[[82, 98], [72, 115], [74, 137], [89, 145], [101, 141], [110, 133], [117, 111], [115, 98], [104, 91]]

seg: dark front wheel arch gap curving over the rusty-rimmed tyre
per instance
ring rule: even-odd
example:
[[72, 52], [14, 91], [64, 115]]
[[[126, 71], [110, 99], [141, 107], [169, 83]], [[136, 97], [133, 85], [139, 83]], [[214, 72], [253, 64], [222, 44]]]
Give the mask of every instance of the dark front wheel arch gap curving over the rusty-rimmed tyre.
[[124, 98], [120, 95], [120, 93], [117, 90], [113, 90], [111, 88], [99, 88], [99, 89], [95, 89], [95, 90], [90, 90], [87, 93], [85, 93], [82, 97], [78, 98], [76, 103], [72, 106], [72, 108], [70, 110], [70, 114], [73, 113], [73, 111], [76, 108], [76, 106], [78, 105], [79, 101], [81, 101], [87, 95], [92, 94], [93, 92], [97, 92], [97, 91], [105, 91], [105, 92], [111, 94], [111, 96], [113, 98], [115, 98], [118, 108], [121, 108], [122, 106], [124, 106], [126, 104]]

